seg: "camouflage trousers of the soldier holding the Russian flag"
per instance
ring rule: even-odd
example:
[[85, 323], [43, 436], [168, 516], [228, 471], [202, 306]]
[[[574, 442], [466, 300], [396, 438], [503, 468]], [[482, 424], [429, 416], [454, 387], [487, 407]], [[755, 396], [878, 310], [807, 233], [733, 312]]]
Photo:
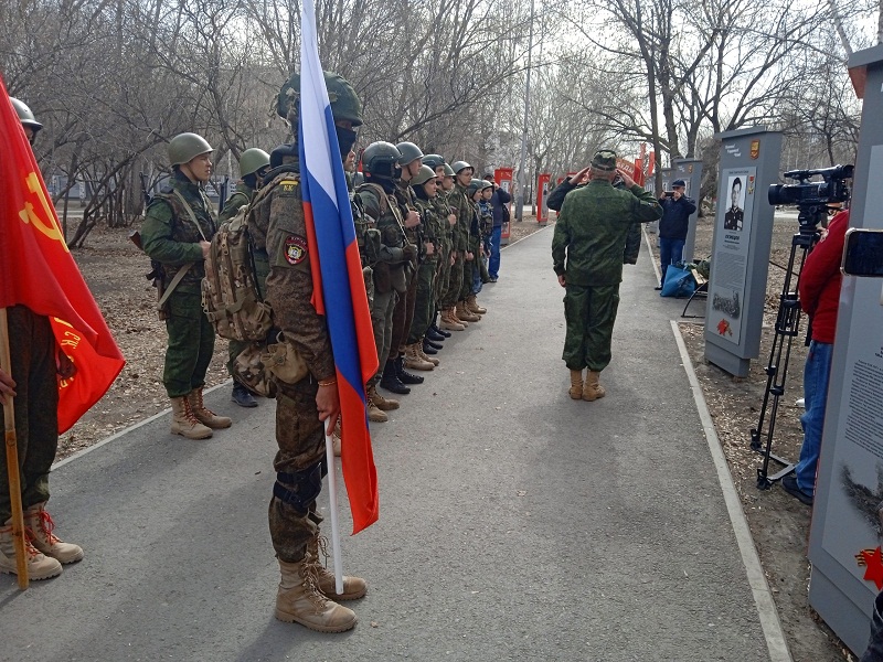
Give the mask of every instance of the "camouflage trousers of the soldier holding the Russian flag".
[[[325, 429], [316, 408], [319, 385], [306, 378], [297, 384], [277, 381], [276, 387], [276, 442], [279, 450], [273, 468], [277, 473], [295, 474], [325, 459]], [[289, 490], [294, 487], [285, 480], [278, 482]], [[322, 521], [316, 513], [315, 499], [304, 510], [299, 510], [275, 494], [269, 502], [268, 520], [273, 548], [276, 556], [286, 563], [304, 559], [307, 543], [318, 535], [319, 523]]]

